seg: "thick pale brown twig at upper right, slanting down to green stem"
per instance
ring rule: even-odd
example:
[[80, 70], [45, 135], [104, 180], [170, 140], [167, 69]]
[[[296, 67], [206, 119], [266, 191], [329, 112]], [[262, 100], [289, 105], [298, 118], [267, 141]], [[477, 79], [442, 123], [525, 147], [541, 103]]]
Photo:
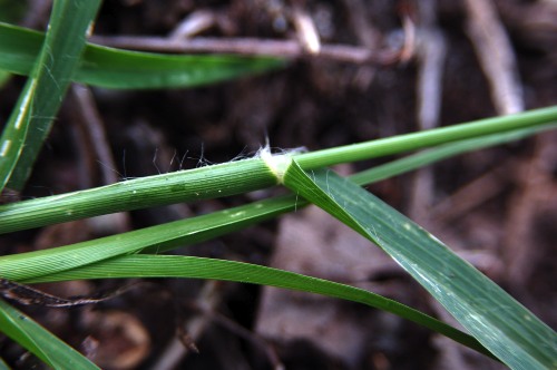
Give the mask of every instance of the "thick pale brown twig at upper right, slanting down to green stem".
[[501, 115], [524, 110], [522, 88], [515, 53], [494, 3], [466, 0], [468, 36], [491, 86], [491, 99]]

